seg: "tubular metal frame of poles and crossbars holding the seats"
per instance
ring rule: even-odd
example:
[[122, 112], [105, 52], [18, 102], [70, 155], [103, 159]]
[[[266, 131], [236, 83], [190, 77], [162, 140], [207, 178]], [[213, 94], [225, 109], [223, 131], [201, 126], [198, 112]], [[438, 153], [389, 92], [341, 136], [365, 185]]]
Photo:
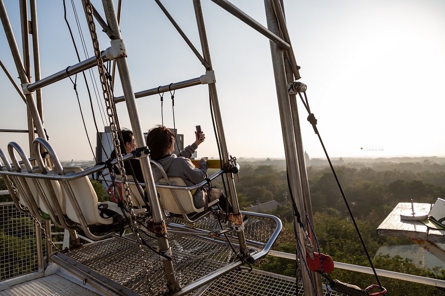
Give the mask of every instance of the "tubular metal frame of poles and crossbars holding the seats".
[[[207, 39], [207, 32], [205, 28], [205, 22], [204, 22], [204, 16], [203, 11], [201, 7], [201, 1], [200, 0], [193, 0], [193, 6], [196, 16], [196, 22], [197, 22], [197, 29], [199, 33], [199, 39], [201, 41], [203, 56], [201, 56], [196, 48], [193, 46], [193, 44], [190, 42], [190, 40], [185, 36], [184, 32], [181, 30], [181, 28], [177, 25], [177, 23], [173, 20], [173, 18], [170, 16], [170, 14], [167, 12], [167, 10], [162, 6], [161, 2], [159, 0], [155, 0], [157, 4], [160, 6], [161, 10], [166, 14], [166, 16], [169, 18], [169, 20], [172, 22], [173, 26], [176, 28], [176, 30], [180, 33], [180, 35], [184, 38], [186, 43], [190, 46], [191, 50], [194, 52], [196, 57], [203, 63], [203, 65], [206, 67], [208, 71], [213, 71], [212, 62], [211, 62], [211, 56], [210, 56], [210, 50], [209, 50], [209, 44]], [[296, 204], [297, 208], [301, 213], [307, 212], [309, 215], [309, 220], [312, 219], [311, 217], [311, 206], [310, 206], [310, 196], [307, 186], [307, 174], [304, 167], [304, 157], [302, 153], [302, 142], [301, 142], [301, 132], [300, 132], [300, 126], [299, 126], [299, 118], [298, 118], [298, 110], [296, 106], [296, 100], [295, 96], [289, 96], [286, 89], [287, 82], [291, 82], [295, 79], [299, 79], [299, 67], [296, 63], [296, 59], [294, 56], [293, 48], [291, 46], [291, 41], [289, 34], [287, 32], [286, 23], [285, 23], [285, 16], [284, 16], [284, 9], [282, 2], [280, 0], [265, 0], [265, 10], [266, 10], [266, 19], [268, 22], [268, 29], [264, 28], [260, 23], [258, 23], [256, 20], [251, 18], [246, 13], [239, 10], [237, 7], [235, 7], [233, 4], [228, 2], [227, 0], [212, 0], [215, 4], [220, 6], [221, 8], [225, 9], [229, 13], [233, 14], [243, 22], [247, 23], [250, 27], [254, 28], [256, 31], [261, 33], [262, 35], [266, 36], [271, 40], [271, 53], [272, 53], [272, 62], [274, 67], [274, 75], [275, 75], [275, 82], [276, 82], [276, 88], [277, 88], [277, 97], [278, 97], [278, 105], [279, 105], [279, 111], [280, 111], [280, 118], [281, 118], [281, 125], [282, 125], [282, 132], [283, 132], [283, 139], [284, 139], [284, 149], [285, 149], [285, 155], [286, 155], [286, 162], [288, 167], [288, 174], [290, 176], [290, 183], [291, 183], [291, 189], [294, 193], [294, 196], [296, 198]], [[34, 61], [35, 61], [35, 68], [36, 68], [36, 77], [39, 77], [39, 62], [38, 62], [38, 36], [37, 36], [37, 19], [36, 19], [36, 10], [35, 10], [35, 0], [30, 0], [31, 3], [31, 15], [33, 19], [33, 24], [35, 27], [33, 27], [33, 52], [34, 52]], [[84, 4], [84, 1], [82, 1]], [[121, 3], [121, 2], [119, 2]], [[102, 0], [102, 4], [104, 7], [105, 17], [106, 17], [106, 23], [105, 21], [100, 17], [100, 15], [95, 11], [95, 17], [101, 24], [103, 28], [109, 29], [110, 32], [107, 32], [108, 36], [112, 39], [112, 47], [107, 48], [105, 53], [102, 54], [103, 60], [107, 60], [110, 58], [110, 56], [113, 56], [111, 54], [111, 51], [113, 50], [113, 40], [121, 39], [120, 36], [120, 30], [119, 30], [119, 22], [118, 18], [115, 13], [114, 5], [112, 0]], [[84, 5], [85, 7], [85, 5]], [[59, 81], [63, 78], [68, 77], [68, 74], [66, 73], [66, 70], [59, 71], [58, 73], [55, 73], [54, 75], [39, 79], [35, 83], [30, 83], [30, 59], [29, 59], [29, 36], [28, 36], [28, 21], [27, 21], [27, 0], [20, 0], [20, 8], [21, 8], [21, 25], [22, 25], [22, 42], [24, 47], [24, 59], [25, 59], [25, 65], [21, 61], [17, 44], [15, 43], [14, 35], [12, 33], [12, 29], [9, 23], [9, 19], [6, 13], [6, 9], [3, 3], [3, 0], [0, 0], [0, 18], [3, 23], [3, 27], [8, 39], [8, 43], [11, 48], [11, 53], [14, 58], [14, 62], [17, 68], [17, 71], [19, 72], [20, 81], [23, 85], [23, 90], [26, 94], [26, 102], [29, 107], [29, 135], [30, 135], [30, 144], [33, 140], [31, 139], [31, 136], [34, 137], [33, 126], [32, 126], [32, 119], [34, 120], [34, 124], [36, 125], [36, 129], [38, 132], [38, 135], [40, 139], [37, 140], [35, 149], [30, 149], [31, 153], [38, 151], [37, 147], [39, 145], [42, 145], [45, 149], [49, 149], [50, 152], [50, 158], [55, 161], [54, 166], [56, 171], [58, 172], [59, 176], [49, 176], [46, 174], [35, 174], [33, 172], [32, 166], [30, 167], [29, 161], [27, 161], [26, 156], [22, 156], [23, 162], [25, 163], [25, 166], [28, 168], [28, 173], [23, 173], [20, 171], [19, 163], [16, 159], [13, 159], [14, 166], [17, 168], [17, 171], [12, 171], [11, 165], [5, 164], [6, 169], [8, 171], [1, 171], [0, 175], [11, 177], [13, 180], [24, 180], [24, 178], [36, 178], [36, 179], [44, 179], [46, 180], [46, 184], [50, 184], [50, 180], [58, 180], [62, 182], [62, 185], [64, 186], [66, 192], [68, 192], [69, 198], [73, 204], [73, 206], [76, 209], [76, 214], [81, 215], [80, 209], [77, 205], [75, 196], [73, 195], [73, 192], [71, 190], [69, 181], [74, 180], [76, 178], [84, 177], [87, 175], [90, 175], [92, 172], [98, 171], [102, 168], [92, 168], [87, 169], [83, 172], [72, 174], [70, 176], [63, 176], [63, 169], [61, 169], [60, 162], [58, 161], [54, 151], [52, 151], [51, 146], [47, 144], [46, 141], [44, 141], [44, 131], [42, 126], [42, 110], [41, 110], [41, 94], [37, 94], [38, 97], [38, 105], [39, 108], [36, 107], [36, 104], [34, 102], [32, 91], [39, 90], [41, 87], [49, 85], [51, 83], [54, 83], [56, 81]], [[35, 29], [34, 29], [35, 28]], [[35, 33], [35, 35], [34, 35]], [[113, 33], [113, 34], [110, 34]], [[35, 45], [35, 46], [34, 46]], [[123, 43], [122, 43], [123, 45]], [[110, 54], [107, 55], [106, 53]], [[111, 58], [112, 59], [112, 58]], [[126, 55], [120, 55], [115, 59], [115, 63], [118, 66], [121, 84], [124, 92], [124, 96], [115, 98], [115, 102], [126, 102], [130, 122], [131, 122], [131, 128], [133, 130], [133, 133], [135, 135], [136, 142], [143, 146], [144, 143], [144, 137], [142, 132], [142, 127], [139, 120], [139, 114], [138, 109], [136, 106], [136, 97], [142, 97], [145, 95], [151, 95], [155, 94], [161, 91], [166, 91], [167, 86], [162, 86], [156, 89], [150, 89], [146, 91], [139, 92], [135, 95], [132, 89], [131, 80], [129, 76], [128, 71], [128, 65], [126, 62]], [[82, 70], [85, 70], [87, 68], [91, 68], [95, 65], [95, 57], [85, 60], [83, 62], [80, 62], [72, 67], [69, 67], [69, 73], [70, 75], [74, 73], [78, 73]], [[37, 75], [38, 71], [38, 75]], [[114, 75], [114, 71], [113, 71]], [[227, 143], [224, 133], [224, 128], [222, 125], [222, 117], [220, 112], [220, 106], [219, 106], [219, 100], [218, 95], [216, 91], [216, 83], [215, 81], [207, 82], [209, 84], [209, 91], [211, 96], [211, 102], [214, 110], [214, 117], [216, 122], [216, 130], [217, 130], [217, 137], [219, 138], [219, 144], [221, 148], [221, 157], [224, 164], [229, 163], [229, 155], [227, 150]], [[180, 89], [188, 86], [198, 85], [198, 84], [205, 84], [203, 83], [203, 80], [201, 78], [195, 78], [188, 81], [176, 83], [170, 85], [170, 89]], [[39, 98], [40, 97], [40, 98]], [[37, 110], [39, 109], [39, 110]], [[30, 123], [31, 122], [31, 123]], [[31, 135], [32, 134], [32, 135]], [[12, 148], [11, 148], [12, 149]], [[10, 151], [11, 152], [11, 151]], [[15, 158], [15, 156], [12, 154], [11, 157]], [[31, 155], [32, 156], [32, 155]], [[126, 156], [124, 159], [130, 159], [134, 156], [129, 155]], [[26, 160], [25, 160], [26, 159]], [[40, 156], [40, 154], [36, 155], [37, 162], [39, 163], [39, 167], [41, 168], [42, 172], [44, 170], [43, 160]], [[7, 162], [7, 160], [4, 159], [4, 162]], [[115, 161], [117, 163], [117, 161]], [[163, 211], [160, 207], [159, 201], [157, 199], [156, 189], [154, 180], [152, 177], [151, 172], [151, 165], [147, 158], [140, 158], [140, 163], [142, 167], [143, 177], [144, 177], [144, 183], [147, 186], [148, 192], [149, 192], [149, 200], [150, 205], [152, 207], [152, 214], [153, 214], [153, 221], [154, 223], [164, 223], [163, 220]], [[31, 168], [31, 169], [30, 169]], [[3, 168], [2, 168], [3, 169]], [[161, 170], [163, 171], [163, 170]], [[164, 172], [165, 173], [165, 172]], [[220, 171], [218, 174], [224, 173], [223, 171]], [[239, 206], [237, 202], [236, 197], [236, 190], [235, 190], [235, 184], [233, 180], [233, 174], [231, 172], [225, 172], [226, 174], [226, 180], [229, 187], [229, 195], [232, 201], [232, 206], [234, 208], [233, 213], [239, 214]], [[166, 178], [168, 180], [168, 178]], [[48, 181], [48, 182], [47, 182]], [[34, 182], [34, 180], [33, 180]], [[35, 180], [36, 183], [39, 184], [39, 186], [36, 186], [37, 188], [40, 187], [40, 183]], [[8, 183], [8, 182], [6, 182]], [[16, 182], [18, 184], [18, 190], [20, 194], [24, 196], [24, 198], [28, 198], [30, 205], [31, 205], [31, 211], [38, 213], [38, 208], [36, 208], [36, 205], [32, 204], [32, 196], [30, 198], [29, 196], [29, 188], [27, 188], [26, 182], [25, 184], [22, 184], [20, 186], [20, 182]], [[35, 184], [36, 184], [35, 183]], [[204, 182], [205, 183], [205, 182]], [[181, 190], [190, 190], [193, 189], [193, 187], [198, 188], [202, 186], [203, 184], [198, 184], [195, 186], [189, 186], [184, 188], [179, 188], [181, 186], [173, 186], [171, 184], [167, 185], [158, 185], [158, 187], [163, 188], [169, 188], [173, 192], [173, 189], [181, 189]], [[47, 186], [48, 189], [51, 191], [52, 186]], [[9, 187], [8, 187], [9, 189]], [[39, 192], [41, 191], [41, 188], [38, 189]], [[26, 194], [25, 194], [26, 193]], [[54, 193], [54, 192], [52, 192]], [[50, 193], [50, 198], [53, 200], [55, 196]], [[14, 192], [11, 192], [11, 195], [14, 195]], [[179, 203], [179, 200], [177, 199], [176, 194], [173, 194], [175, 196], [175, 200], [178, 203], [178, 205], [181, 208], [181, 211], [183, 212], [183, 209]], [[15, 199], [13, 198], [14, 202], [18, 203], [17, 196], [15, 196]], [[48, 200], [43, 198], [44, 203], [48, 203]], [[53, 200], [54, 201], [54, 200]], [[49, 204], [49, 203], [48, 203]], [[60, 212], [58, 210], [53, 211], [50, 213], [53, 219], [56, 218], [56, 216], [59, 215]], [[183, 213], [184, 214], [184, 213]], [[80, 217], [79, 216], [79, 217]], [[61, 219], [60, 219], [61, 221]], [[189, 220], [191, 221], [191, 220]], [[82, 228], [85, 228], [84, 230], [87, 231], [87, 226], [84, 223], [84, 219], [81, 219]], [[296, 223], [296, 221], [294, 221]], [[85, 224], [85, 225], [84, 225]], [[303, 224], [305, 225], [305, 219], [303, 219]], [[165, 223], [164, 226], [165, 227]], [[297, 227], [297, 229], [299, 229]], [[307, 229], [307, 227], [306, 227]], [[91, 234], [91, 233], [88, 233]], [[244, 232], [237, 232], [238, 235], [238, 241], [239, 246], [241, 249], [241, 253], [245, 257], [249, 257], [249, 251], [247, 249], [246, 245], [246, 237], [244, 236]], [[88, 235], [89, 236], [89, 235]], [[303, 233], [299, 230], [298, 231], [298, 237], [300, 241], [304, 240]], [[99, 239], [99, 237], [94, 236], [95, 239]], [[158, 242], [160, 245], [161, 251], [166, 251], [169, 249], [168, 240], [165, 237], [159, 237]], [[256, 254], [257, 255], [257, 254]], [[302, 262], [305, 260], [305, 256], [301, 256], [300, 260]], [[177, 291], [181, 289], [179, 286], [179, 282], [175, 278], [174, 274], [174, 268], [170, 261], [164, 260], [164, 268], [165, 273], [167, 276], [167, 283], [169, 287], [171, 287], [171, 290]], [[303, 277], [303, 284], [306, 287], [310, 287], [309, 278], [305, 273], [302, 273]], [[203, 281], [206, 281], [207, 279], [204, 279]], [[201, 280], [200, 280], [201, 281]], [[198, 281], [199, 282], [199, 281]], [[317, 277], [315, 277], [315, 282], [317, 286], [317, 290], [319, 293], [322, 293], [321, 290], [321, 281], [317, 281]], [[194, 285], [201, 285], [204, 284], [204, 282], [200, 283], [193, 283], [191, 285], [188, 285], [188, 287], [192, 287]], [[305, 291], [307, 295], [313, 295], [313, 291], [311, 289], [307, 289]], [[186, 293], [185, 290], [178, 292], [179, 294]]]

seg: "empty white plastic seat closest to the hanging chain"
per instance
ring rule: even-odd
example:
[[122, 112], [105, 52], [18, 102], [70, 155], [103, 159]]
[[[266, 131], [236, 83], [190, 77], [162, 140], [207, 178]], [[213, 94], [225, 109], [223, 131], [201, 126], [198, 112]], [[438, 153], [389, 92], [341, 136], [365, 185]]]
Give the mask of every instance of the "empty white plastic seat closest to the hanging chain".
[[[80, 167], [72, 166], [63, 168], [65, 175], [74, 174], [82, 170], [83, 169]], [[71, 185], [74, 193], [74, 198], [77, 200], [77, 203], [87, 225], [113, 224], [113, 219], [106, 219], [100, 216], [98, 206], [101, 204], [108, 204], [108, 209], [122, 214], [122, 211], [117, 204], [112, 202], [99, 203], [97, 201], [96, 192], [94, 191], [94, 188], [91, 185], [90, 179], [88, 179], [88, 177], [81, 177], [76, 180], [68, 181], [68, 183]], [[62, 191], [65, 195], [66, 215], [76, 223], [80, 223], [80, 219], [77, 216], [76, 211], [74, 210], [74, 207], [71, 203], [68, 193], [65, 191], [64, 186], [62, 186]], [[134, 211], [135, 214], [140, 214], [145, 212], [145, 209], [135, 209]]]

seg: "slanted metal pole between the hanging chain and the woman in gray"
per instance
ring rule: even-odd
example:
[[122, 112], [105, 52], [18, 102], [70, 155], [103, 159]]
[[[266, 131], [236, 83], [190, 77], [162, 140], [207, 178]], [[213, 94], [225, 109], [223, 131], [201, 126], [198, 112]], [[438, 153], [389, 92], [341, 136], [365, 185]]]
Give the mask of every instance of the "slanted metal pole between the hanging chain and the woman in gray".
[[[116, 35], [116, 39], [121, 39], [119, 31], [119, 24], [116, 17], [113, 0], [102, 0], [105, 16], [108, 22], [108, 26]], [[128, 115], [131, 122], [131, 129], [135, 135], [136, 143], [138, 146], [145, 146], [144, 132], [142, 131], [141, 121], [139, 120], [138, 108], [136, 105], [135, 93], [131, 85], [130, 74], [128, 70], [128, 64], [125, 57], [119, 57], [116, 59], [116, 65], [119, 71], [119, 77], [121, 79], [122, 89], [124, 91], [125, 103], [127, 105]], [[149, 192], [149, 199], [151, 205], [151, 212], [153, 214], [154, 223], [164, 222], [162, 216], [162, 209], [159, 205], [158, 195], [154, 186], [153, 175], [151, 172], [151, 166], [147, 157], [139, 159], [142, 167], [142, 174], [144, 176], [144, 182]], [[163, 230], [167, 232], [165, 223], [162, 224]], [[167, 251], [170, 249], [167, 237], [158, 236], [158, 243], [160, 251]], [[173, 267], [173, 261], [162, 260], [164, 263], [165, 274], [167, 276], [167, 284], [172, 291], [181, 289], [179, 281], [176, 279]]]

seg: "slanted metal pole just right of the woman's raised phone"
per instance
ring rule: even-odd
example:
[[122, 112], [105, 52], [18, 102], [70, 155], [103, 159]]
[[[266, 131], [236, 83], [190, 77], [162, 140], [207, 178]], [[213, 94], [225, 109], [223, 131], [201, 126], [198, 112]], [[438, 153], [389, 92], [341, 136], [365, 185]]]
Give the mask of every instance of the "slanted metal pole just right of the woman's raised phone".
[[[201, 40], [201, 46], [203, 48], [204, 59], [210, 65], [209, 69], [208, 69], [210, 71], [210, 70], [213, 70], [212, 59], [210, 57], [209, 42], [207, 39], [206, 24], [204, 22], [204, 15], [203, 15], [203, 8], [201, 7], [201, 0], [193, 0], [193, 6], [195, 8], [196, 22], [197, 22], [197, 26], [198, 26], [199, 39]], [[224, 128], [222, 127], [222, 117], [221, 117], [221, 110], [219, 108], [218, 93], [216, 92], [216, 83], [210, 83], [209, 89], [210, 89], [210, 97], [212, 100], [213, 111], [214, 111], [214, 116], [215, 116], [216, 130], [218, 132], [219, 143], [221, 145], [222, 161], [224, 163], [227, 163], [229, 161], [229, 154], [227, 151], [227, 142], [226, 142], [226, 136], [224, 135]], [[233, 175], [231, 173], [228, 173], [228, 174], [226, 174], [226, 177], [227, 177], [227, 183], [229, 186], [230, 198], [232, 201], [233, 214], [237, 215], [240, 213], [240, 211], [239, 211], [238, 199], [236, 197], [235, 182], [233, 180]], [[246, 245], [246, 237], [244, 235], [244, 232], [242, 232], [242, 231], [237, 232], [237, 234], [238, 234], [240, 249], [241, 249], [243, 255], [247, 257], [247, 256], [249, 256], [249, 254], [248, 254], [248, 249], [247, 249], [247, 245]]]

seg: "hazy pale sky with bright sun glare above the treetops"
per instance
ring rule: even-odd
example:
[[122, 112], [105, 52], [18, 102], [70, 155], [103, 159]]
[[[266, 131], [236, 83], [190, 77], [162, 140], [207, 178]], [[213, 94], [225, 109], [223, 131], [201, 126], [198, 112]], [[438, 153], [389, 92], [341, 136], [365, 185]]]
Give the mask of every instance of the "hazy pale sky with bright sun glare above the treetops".
[[[74, 1], [88, 56], [94, 56], [80, 1]], [[92, 1], [103, 15], [100, 1]], [[116, 2], [117, 3], [117, 2]], [[266, 27], [262, 1], [232, 3]], [[163, 1], [183, 31], [201, 50], [191, 1]], [[21, 51], [18, 1], [5, 1]], [[269, 40], [210, 0], [202, 0], [228, 151], [236, 157], [284, 157]], [[307, 85], [311, 112], [332, 158], [445, 155], [445, 2], [437, 0], [285, 0], [287, 27], [300, 81]], [[66, 1], [81, 59], [81, 39], [73, 7]], [[77, 63], [63, 4], [37, 2], [41, 77]], [[123, 1], [121, 35], [135, 91], [199, 77], [205, 68], [154, 1]], [[109, 46], [98, 32], [101, 50]], [[31, 40], [31, 38], [30, 38]], [[31, 42], [30, 42], [31, 43]], [[17, 77], [5, 33], [0, 60]], [[33, 71], [33, 70], [32, 70]], [[98, 71], [93, 70], [98, 78]], [[86, 72], [87, 77], [90, 73]], [[32, 78], [33, 80], [33, 78]], [[33, 80], [34, 81], [34, 80]], [[18, 79], [15, 82], [19, 85]], [[96, 145], [90, 101], [77, 77], [85, 124]], [[88, 81], [93, 89], [93, 83]], [[100, 89], [100, 84], [98, 84]], [[115, 95], [122, 95], [119, 79]], [[0, 129], [27, 129], [26, 105], [0, 71]], [[44, 127], [61, 160], [93, 159], [70, 80], [44, 87]], [[99, 131], [103, 131], [93, 93]], [[137, 99], [143, 130], [161, 123], [159, 95]], [[177, 90], [175, 125], [185, 144], [201, 125], [206, 141], [198, 157], [217, 157], [207, 85]], [[130, 128], [124, 103], [117, 105], [122, 127]], [[317, 135], [298, 102], [303, 146], [311, 158], [324, 157]], [[303, 112], [304, 111], [304, 112]], [[164, 123], [173, 127], [170, 94], [164, 94]], [[15, 141], [28, 153], [26, 134], [0, 133], [0, 149]]]

